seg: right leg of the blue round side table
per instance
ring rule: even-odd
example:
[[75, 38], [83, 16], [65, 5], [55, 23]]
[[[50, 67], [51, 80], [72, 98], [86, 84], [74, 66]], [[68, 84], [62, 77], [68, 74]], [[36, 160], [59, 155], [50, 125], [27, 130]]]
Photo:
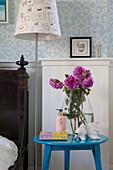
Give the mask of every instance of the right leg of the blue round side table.
[[102, 170], [100, 145], [94, 145], [92, 152], [95, 160], [96, 170]]

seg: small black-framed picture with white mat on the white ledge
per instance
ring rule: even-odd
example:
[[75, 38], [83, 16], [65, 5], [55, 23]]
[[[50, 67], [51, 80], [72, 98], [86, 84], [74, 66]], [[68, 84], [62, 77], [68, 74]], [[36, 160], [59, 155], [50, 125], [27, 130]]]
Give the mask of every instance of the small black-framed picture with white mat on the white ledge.
[[70, 57], [91, 57], [91, 37], [70, 37]]

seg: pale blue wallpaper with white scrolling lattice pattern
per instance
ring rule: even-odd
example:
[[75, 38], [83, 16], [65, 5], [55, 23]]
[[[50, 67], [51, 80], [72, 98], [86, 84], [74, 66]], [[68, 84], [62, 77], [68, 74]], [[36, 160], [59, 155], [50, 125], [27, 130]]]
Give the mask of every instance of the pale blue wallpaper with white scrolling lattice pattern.
[[[0, 61], [16, 61], [22, 54], [28, 61], [35, 60], [35, 42], [14, 37], [18, 4], [19, 0], [9, 0], [9, 23], [0, 24]], [[112, 7], [113, 0], [57, 0], [62, 37], [40, 41], [39, 58], [70, 57], [70, 37], [80, 36], [92, 37], [92, 57], [96, 57], [97, 44], [101, 57], [112, 57]]]

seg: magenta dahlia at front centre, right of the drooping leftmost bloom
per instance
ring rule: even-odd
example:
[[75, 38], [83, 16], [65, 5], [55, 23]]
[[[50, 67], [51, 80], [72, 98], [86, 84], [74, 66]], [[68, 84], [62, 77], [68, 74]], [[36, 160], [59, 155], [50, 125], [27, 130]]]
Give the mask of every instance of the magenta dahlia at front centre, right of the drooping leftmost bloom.
[[79, 86], [79, 80], [72, 75], [68, 76], [68, 78], [64, 81], [64, 83], [67, 89], [69, 90], [77, 89]]

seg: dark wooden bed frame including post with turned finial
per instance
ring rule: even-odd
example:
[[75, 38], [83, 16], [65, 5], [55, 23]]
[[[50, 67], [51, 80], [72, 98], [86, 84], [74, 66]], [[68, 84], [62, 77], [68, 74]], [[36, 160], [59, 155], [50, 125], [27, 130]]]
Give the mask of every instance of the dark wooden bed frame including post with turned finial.
[[[28, 169], [28, 74], [24, 68], [28, 62], [23, 56], [17, 62], [18, 70], [0, 70], [0, 135], [15, 142], [18, 159], [9, 170], [17, 170], [23, 160]], [[22, 158], [22, 159], [21, 159]]]

